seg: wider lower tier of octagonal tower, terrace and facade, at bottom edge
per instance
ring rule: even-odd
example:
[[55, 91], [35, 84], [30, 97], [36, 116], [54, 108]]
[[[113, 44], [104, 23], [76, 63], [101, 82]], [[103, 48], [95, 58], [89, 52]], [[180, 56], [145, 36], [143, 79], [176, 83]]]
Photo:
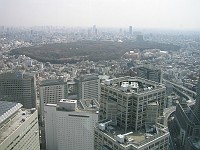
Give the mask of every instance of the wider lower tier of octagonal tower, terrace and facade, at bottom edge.
[[[150, 131], [151, 130], [151, 131]], [[167, 127], [156, 124], [149, 131], [129, 132], [113, 126], [108, 120], [101, 121], [94, 131], [95, 150], [168, 150]]]

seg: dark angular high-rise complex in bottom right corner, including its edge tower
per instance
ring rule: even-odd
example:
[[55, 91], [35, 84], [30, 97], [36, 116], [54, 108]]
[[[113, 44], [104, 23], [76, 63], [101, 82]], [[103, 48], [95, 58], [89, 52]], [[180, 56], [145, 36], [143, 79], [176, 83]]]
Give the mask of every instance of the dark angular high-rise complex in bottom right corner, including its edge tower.
[[175, 120], [179, 128], [180, 145], [185, 149], [196, 147], [200, 149], [200, 78], [198, 81], [196, 103], [194, 106], [188, 106], [186, 103], [179, 103], [176, 106]]

